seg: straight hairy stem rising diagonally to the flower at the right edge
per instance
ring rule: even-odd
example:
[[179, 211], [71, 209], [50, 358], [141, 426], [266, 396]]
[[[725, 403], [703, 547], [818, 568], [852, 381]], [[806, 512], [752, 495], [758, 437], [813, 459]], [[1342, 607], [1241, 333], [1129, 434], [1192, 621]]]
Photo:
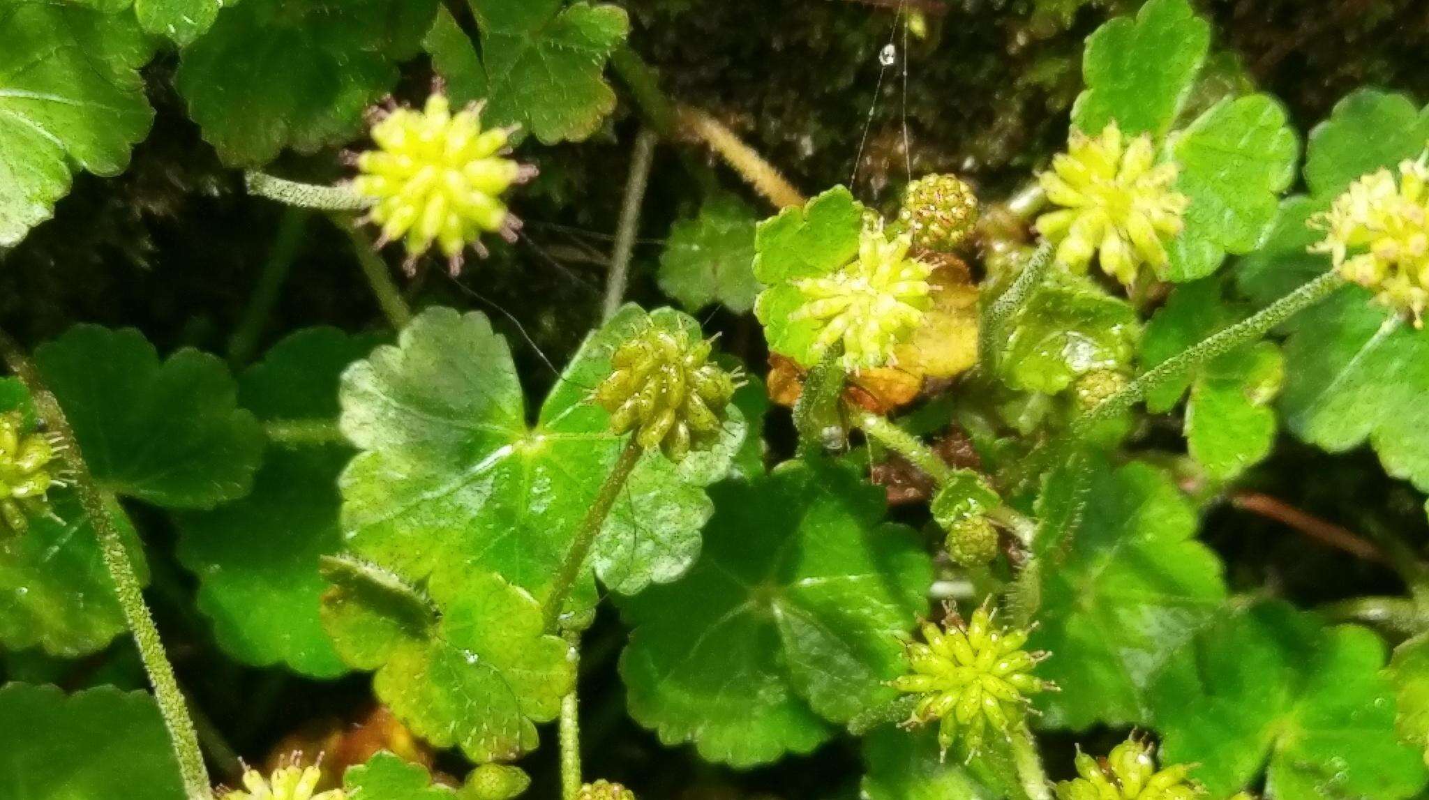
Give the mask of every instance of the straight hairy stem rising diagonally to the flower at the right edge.
[[1162, 361], [1147, 370], [1140, 377], [1126, 386], [1126, 389], [1102, 400], [1095, 409], [1082, 414], [1072, 423], [1069, 436], [1080, 440], [1095, 430], [1100, 423], [1129, 411], [1133, 406], [1146, 399], [1146, 393], [1160, 386], [1163, 381], [1185, 374], [1206, 361], [1223, 356], [1242, 344], [1248, 344], [1265, 336], [1266, 331], [1295, 314], [1309, 309], [1320, 300], [1329, 297], [1339, 287], [1345, 286], [1345, 279], [1339, 273], [1329, 271], [1320, 277], [1300, 286], [1285, 297], [1270, 303], [1256, 314], [1210, 336], [1209, 339], [1182, 350], [1176, 356]]

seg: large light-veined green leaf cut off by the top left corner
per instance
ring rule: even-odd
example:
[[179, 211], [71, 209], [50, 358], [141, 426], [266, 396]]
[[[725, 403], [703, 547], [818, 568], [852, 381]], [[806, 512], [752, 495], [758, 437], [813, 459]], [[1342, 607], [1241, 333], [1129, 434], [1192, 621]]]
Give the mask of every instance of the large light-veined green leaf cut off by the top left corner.
[[154, 113], [137, 69], [151, 43], [121, 6], [0, 9], [0, 249], [50, 219], [79, 171], [114, 176]]

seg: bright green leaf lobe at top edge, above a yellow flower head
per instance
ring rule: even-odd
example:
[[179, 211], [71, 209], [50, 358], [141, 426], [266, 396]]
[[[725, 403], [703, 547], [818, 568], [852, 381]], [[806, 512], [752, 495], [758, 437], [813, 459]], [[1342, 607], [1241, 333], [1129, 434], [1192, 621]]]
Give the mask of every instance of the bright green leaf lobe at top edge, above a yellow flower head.
[[1136, 19], [1116, 17], [1087, 37], [1086, 90], [1072, 124], [1087, 134], [1113, 120], [1127, 134], [1160, 139], [1195, 86], [1210, 47], [1210, 24], [1186, 0], [1150, 0]]

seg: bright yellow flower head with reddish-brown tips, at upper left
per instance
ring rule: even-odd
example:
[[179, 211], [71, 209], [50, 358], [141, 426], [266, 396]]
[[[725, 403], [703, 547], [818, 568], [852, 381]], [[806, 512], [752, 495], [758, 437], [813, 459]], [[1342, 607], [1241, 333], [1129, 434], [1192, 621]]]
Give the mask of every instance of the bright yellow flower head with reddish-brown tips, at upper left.
[[453, 114], [433, 94], [423, 110], [396, 109], [372, 127], [377, 149], [357, 156], [353, 190], [373, 201], [384, 241], [403, 240], [412, 260], [436, 244], [456, 273], [467, 246], [484, 254], [484, 233], [514, 240], [520, 230], [500, 196], [536, 173], [506, 157], [510, 136], [482, 130], [480, 109]]

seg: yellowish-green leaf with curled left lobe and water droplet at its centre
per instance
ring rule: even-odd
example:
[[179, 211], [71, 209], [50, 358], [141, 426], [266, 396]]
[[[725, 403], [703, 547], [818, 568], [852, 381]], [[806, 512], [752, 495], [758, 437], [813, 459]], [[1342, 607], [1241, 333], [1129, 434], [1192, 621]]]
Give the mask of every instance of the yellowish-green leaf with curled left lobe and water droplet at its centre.
[[423, 594], [404, 576], [336, 564], [323, 624], [344, 661], [376, 670], [373, 691], [399, 719], [474, 761], [536, 747], [534, 723], [556, 717], [576, 670], [530, 593], [494, 573], [444, 570]]

